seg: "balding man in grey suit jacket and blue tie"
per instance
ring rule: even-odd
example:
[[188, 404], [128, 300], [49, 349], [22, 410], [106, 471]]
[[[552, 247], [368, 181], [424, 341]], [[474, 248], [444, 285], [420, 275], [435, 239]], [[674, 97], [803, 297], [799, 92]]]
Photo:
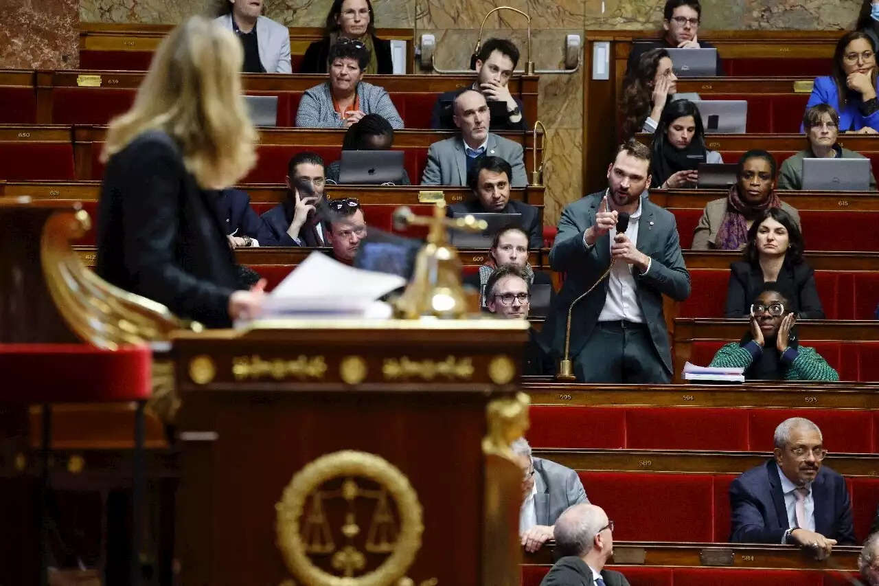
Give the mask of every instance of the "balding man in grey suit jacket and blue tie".
[[525, 154], [522, 145], [489, 132], [489, 106], [482, 93], [461, 92], [454, 99], [454, 124], [461, 136], [433, 143], [421, 185], [464, 186], [480, 157], [501, 157], [512, 166], [512, 187], [525, 187]]

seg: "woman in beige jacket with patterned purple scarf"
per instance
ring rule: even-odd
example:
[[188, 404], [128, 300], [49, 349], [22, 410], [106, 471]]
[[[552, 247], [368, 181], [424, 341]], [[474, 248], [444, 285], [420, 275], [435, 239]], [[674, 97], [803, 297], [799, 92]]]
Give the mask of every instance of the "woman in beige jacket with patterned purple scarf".
[[781, 208], [796, 225], [800, 215], [774, 192], [778, 167], [766, 150], [749, 150], [738, 159], [736, 185], [719, 200], [708, 201], [693, 231], [693, 250], [739, 250], [748, 229], [767, 209]]

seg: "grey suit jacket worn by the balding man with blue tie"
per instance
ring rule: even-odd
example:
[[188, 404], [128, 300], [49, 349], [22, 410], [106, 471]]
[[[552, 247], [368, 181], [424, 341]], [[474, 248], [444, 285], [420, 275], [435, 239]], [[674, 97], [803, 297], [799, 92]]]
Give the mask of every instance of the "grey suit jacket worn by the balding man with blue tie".
[[[522, 145], [489, 133], [486, 155], [501, 157], [512, 166], [512, 187], [525, 187], [525, 157]], [[467, 153], [461, 136], [453, 136], [433, 143], [427, 150], [427, 166], [421, 176], [421, 185], [467, 185]]]

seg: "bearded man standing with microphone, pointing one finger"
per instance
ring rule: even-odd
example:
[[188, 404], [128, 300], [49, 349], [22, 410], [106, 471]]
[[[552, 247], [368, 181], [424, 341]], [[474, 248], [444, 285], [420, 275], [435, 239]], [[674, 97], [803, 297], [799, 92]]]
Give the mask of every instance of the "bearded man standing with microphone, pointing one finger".
[[662, 296], [690, 295], [678, 229], [671, 212], [641, 197], [650, 185], [643, 144], [621, 144], [607, 182], [562, 213], [549, 264], [567, 276], [546, 340], [563, 358], [561, 374], [572, 371], [579, 382], [668, 383]]

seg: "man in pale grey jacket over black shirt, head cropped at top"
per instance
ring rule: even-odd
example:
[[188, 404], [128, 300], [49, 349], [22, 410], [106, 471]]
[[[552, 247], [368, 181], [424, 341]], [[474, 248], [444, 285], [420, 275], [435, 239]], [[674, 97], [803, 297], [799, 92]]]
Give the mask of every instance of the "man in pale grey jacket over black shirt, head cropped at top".
[[293, 73], [290, 31], [287, 26], [260, 16], [262, 9], [263, 0], [227, 2], [222, 7], [222, 16], [214, 22], [238, 35], [244, 48], [245, 73]]

